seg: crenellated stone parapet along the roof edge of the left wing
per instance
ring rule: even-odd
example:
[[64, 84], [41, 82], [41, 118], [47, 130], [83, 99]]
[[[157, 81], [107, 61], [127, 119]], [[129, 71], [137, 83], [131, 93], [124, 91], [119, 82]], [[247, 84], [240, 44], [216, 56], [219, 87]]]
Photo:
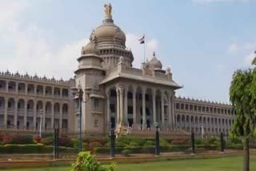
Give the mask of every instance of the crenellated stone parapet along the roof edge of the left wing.
[[29, 74], [16, 74], [10, 73], [8, 70], [6, 72], [0, 72], [0, 78], [14, 78], [14, 79], [22, 79], [22, 80], [28, 80], [28, 81], [36, 81], [36, 82], [48, 82], [52, 84], [60, 84], [60, 85], [70, 85], [71, 82], [73, 82], [73, 79], [70, 78], [68, 81], [62, 80], [56, 80], [55, 78], [40, 78], [37, 75], [30, 76]]

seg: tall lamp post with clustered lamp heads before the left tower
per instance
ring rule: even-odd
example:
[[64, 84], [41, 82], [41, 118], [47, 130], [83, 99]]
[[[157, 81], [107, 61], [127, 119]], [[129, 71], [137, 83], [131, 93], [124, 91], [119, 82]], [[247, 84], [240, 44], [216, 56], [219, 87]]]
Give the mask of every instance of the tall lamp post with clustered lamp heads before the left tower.
[[78, 100], [78, 106], [79, 106], [79, 151], [82, 151], [82, 102], [86, 103], [89, 100], [90, 95], [90, 88], [86, 88], [86, 100], [83, 101], [83, 90], [80, 83], [78, 84], [78, 88], [74, 87], [71, 88], [71, 91], [74, 95], [74, 100]]

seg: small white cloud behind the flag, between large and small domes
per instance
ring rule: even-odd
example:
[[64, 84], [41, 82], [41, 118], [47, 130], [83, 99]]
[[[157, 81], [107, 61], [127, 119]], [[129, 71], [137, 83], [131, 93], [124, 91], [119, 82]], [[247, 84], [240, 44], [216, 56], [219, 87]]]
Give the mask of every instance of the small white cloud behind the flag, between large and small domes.
[[[140, 68], [142, 62], [144, 61], [144, 45], [139, 44], [138, 39], [141, 35], [136, 34], [126, 34], [126, 46], [132, 50], [134, 54], [133, 67]], [[145, 57], [150, 60], [154, 51], [158, 50], [158, 40], [155, 38], [146, 39], [145, 46]]]

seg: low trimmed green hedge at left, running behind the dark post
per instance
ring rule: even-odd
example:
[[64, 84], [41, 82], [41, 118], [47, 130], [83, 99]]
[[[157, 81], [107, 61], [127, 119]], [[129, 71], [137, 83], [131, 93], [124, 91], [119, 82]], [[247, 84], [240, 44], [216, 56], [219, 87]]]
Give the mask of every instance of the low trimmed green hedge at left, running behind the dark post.
[[[30, 144], [30, 145], [0, 145], [0, 153], [53, 153], [52, 145]], [[70, 147], [59, 147], [60, 153], [77, 153], [78, 149]]]

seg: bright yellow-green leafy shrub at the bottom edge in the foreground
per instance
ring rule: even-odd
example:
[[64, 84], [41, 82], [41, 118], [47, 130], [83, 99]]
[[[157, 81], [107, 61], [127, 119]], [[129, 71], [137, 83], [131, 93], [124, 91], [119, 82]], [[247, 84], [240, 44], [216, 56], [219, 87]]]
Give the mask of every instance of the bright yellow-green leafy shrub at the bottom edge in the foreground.
[[114, 171], [114, 164], [102, 166], [89, 152], [80, 152], [71, 171]]

